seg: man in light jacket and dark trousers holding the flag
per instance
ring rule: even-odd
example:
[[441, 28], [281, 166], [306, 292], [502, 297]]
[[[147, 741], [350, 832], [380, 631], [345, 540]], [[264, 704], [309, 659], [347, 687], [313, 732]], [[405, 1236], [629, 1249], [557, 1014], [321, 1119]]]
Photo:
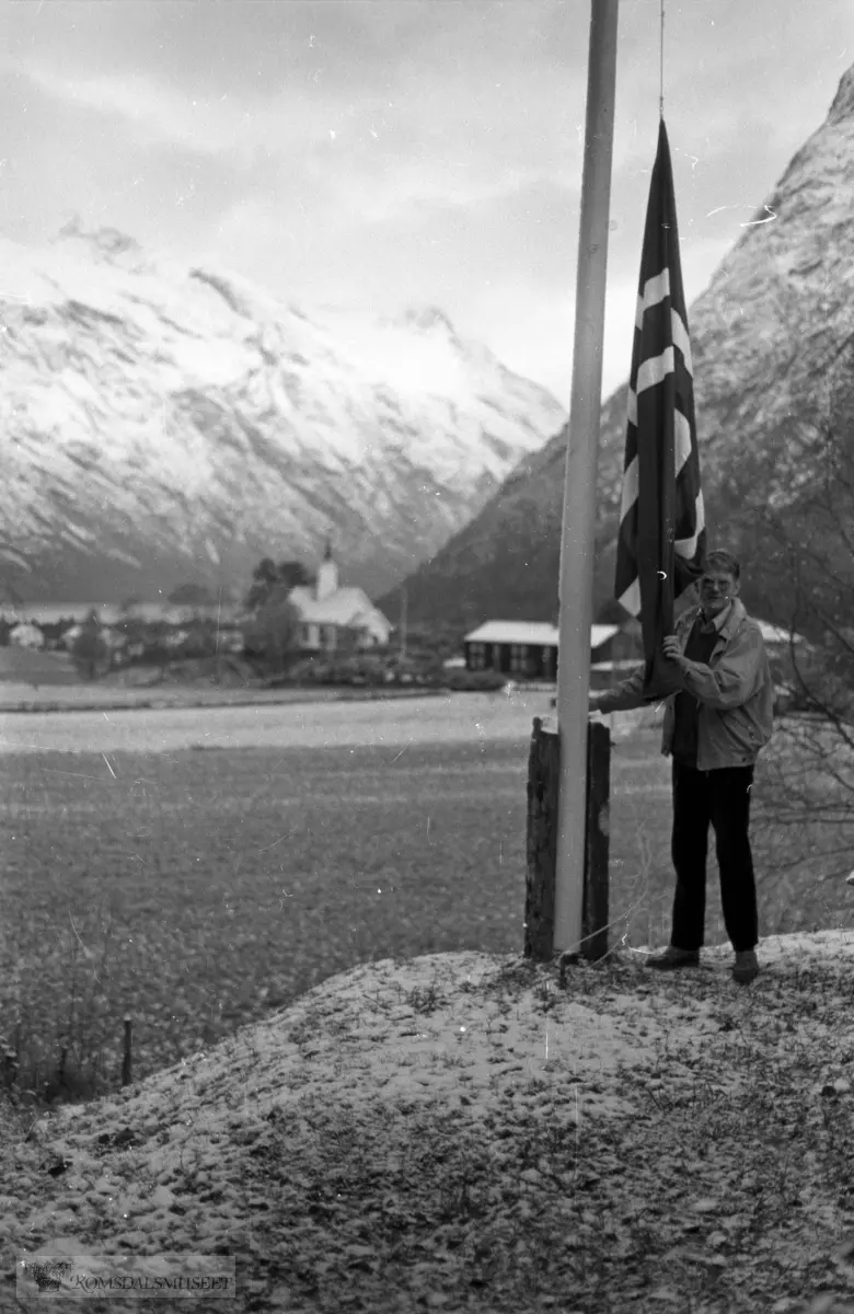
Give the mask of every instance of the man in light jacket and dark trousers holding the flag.
[[[711, 552], [699, 581], [700, 604], [685, 611], [663, 640], [674, 691], [665, 702], [661, 752], [673, 756], [673, 844], [677, 872], [670, 945], [650, 967], [698, 966], [706, 922], [706, 857], [715, 829], [721, 904], [736, 951], [733, 976], [758, 972], [757, 896], [748, 838], [750, 786], [759, 750], [773, 733], [774, 686], [762, 632], [738, 598], [741, 569], [729, 552]], [[628, 679], [590, 695], [590, 710], [644, 706], [644, 664]]]

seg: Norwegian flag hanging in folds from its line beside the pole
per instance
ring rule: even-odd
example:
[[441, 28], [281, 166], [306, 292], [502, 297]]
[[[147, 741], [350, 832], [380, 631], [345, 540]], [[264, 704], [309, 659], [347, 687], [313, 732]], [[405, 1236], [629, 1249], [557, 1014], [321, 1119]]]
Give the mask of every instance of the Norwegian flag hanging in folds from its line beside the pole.
[[618, 602], [641, 619], [646, 698], [673, 692], [673, 666], [661, 644], [673, 633], [675, 598], [699, 578], [704, 562], [691, 343], [662, 118], [641, 255], [614, 589]]

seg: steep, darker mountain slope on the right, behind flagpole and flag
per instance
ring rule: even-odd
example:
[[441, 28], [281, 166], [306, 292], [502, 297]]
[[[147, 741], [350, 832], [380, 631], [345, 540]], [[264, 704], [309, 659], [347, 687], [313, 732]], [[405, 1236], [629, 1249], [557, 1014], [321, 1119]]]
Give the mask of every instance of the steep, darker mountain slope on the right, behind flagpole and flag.
[[[825, 124], [690, 310], [709, 545], [749, 552], [753, 507], [794, 507], [854, 386], [854, 70]], [[627, 365], [631, 342], [625, 343]], [[612, 607], [625, 386], [604, 403], [594, 607]], [[557, 607], [566, 431], [522, 460], [483, 510], [407, 581], [413, 619], [551, 619]], [[742, 595], [762, 604], [762, 560]], [[750, 578], [752, 577], [752, 578]], [[382, 599], [380, 599], [382, 606]], [[619, 608], [618, 608], [619, 610]]]

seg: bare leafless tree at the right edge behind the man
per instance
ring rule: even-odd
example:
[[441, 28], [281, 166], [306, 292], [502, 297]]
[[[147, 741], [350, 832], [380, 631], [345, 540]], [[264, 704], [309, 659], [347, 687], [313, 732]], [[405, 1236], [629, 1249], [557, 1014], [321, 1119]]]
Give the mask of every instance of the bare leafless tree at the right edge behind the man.
[[[740, 556], [761, 569], [763, 614], [790, 632], [788, 682], [804, 714], [762, 754], [754, 828], [779, 842], [776, 871], [809, 862], [819, 884], [847, 874], [854, 849], [854, 388], [832, 390], [813, 414], [769, 457], [792, 461], [796, 495], [786, 505], [763, 494], [749, 507]], [[779, 477], [754, 486], [776, 487]]]

